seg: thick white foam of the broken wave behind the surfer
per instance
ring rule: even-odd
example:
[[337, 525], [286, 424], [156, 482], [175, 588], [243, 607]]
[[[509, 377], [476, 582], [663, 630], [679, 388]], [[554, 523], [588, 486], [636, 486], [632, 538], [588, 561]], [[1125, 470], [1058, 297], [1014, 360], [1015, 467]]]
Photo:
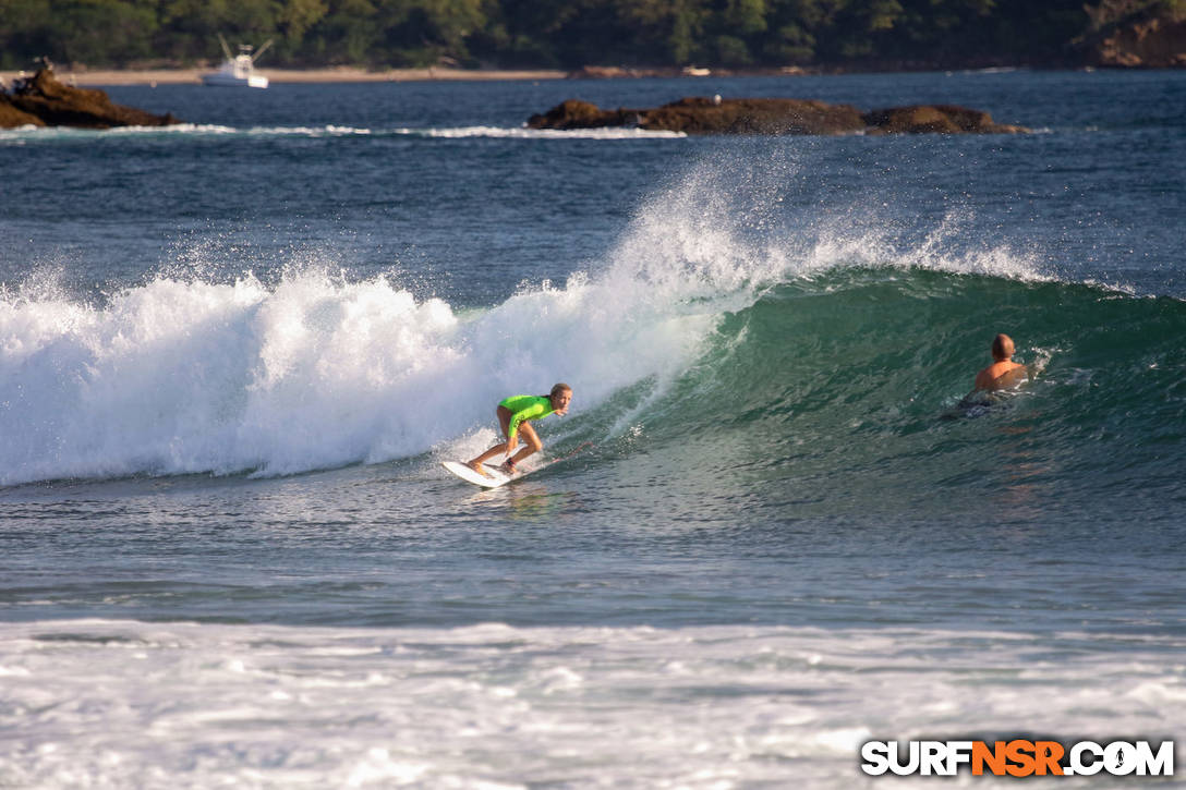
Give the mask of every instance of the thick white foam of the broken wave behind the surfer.
[[574, 275], [465, 319], [319, 270], [270, 288], [161, 276], [101, 306], [6, 291], [0, 483], [285, 474], [480, 444], [508, 393], [567, 380], [587, 408], [687, 364], [713, 312], [612, 282]]

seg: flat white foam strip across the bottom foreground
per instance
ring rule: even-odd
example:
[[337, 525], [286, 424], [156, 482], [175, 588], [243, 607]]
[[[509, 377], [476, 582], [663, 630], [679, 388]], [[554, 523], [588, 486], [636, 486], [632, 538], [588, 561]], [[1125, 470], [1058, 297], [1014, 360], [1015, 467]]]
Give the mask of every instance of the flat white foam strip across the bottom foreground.
[[[847, 789], [867, 782], [857, 765], [871, 739], [1181, 728], [1186, 684], [1167, 661], [1181, 639], [1093, 635], [1092, 650], [1083, 639], [746, 625], [0, 624], [0, 665], [23, 673], [0, 706], [9, 733], [0, 776], [46, 789], [128, 777], [145, 788]], [[974, 781], [984, 779], [956, 782]]]

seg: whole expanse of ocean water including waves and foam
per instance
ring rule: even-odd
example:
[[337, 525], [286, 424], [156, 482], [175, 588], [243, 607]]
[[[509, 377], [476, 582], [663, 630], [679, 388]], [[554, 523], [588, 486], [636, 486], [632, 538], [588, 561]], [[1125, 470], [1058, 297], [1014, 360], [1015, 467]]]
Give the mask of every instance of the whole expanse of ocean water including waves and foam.
[[[714, 93], [1034, 133], [522, 128]], [[1186, 74], [109, 94], [187, 123], [0, 133], [0, 786], [1186, 738]]]

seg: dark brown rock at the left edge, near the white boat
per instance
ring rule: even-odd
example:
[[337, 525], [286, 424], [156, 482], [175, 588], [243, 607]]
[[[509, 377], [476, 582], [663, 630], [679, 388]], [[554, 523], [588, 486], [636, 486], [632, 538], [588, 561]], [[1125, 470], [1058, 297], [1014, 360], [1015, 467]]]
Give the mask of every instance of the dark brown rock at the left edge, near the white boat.
[[[27, 120], [28, 117], [36, 120]], [[0, 94], [0, 127], [75, 126], [109, 129], [117, 126], [170, 126], [180, 123], [172, 113], [154, 115], [123, 107], [102, 90], [71, 88], [42, 69], [28, 79], [19, 79], [11, 94]]]

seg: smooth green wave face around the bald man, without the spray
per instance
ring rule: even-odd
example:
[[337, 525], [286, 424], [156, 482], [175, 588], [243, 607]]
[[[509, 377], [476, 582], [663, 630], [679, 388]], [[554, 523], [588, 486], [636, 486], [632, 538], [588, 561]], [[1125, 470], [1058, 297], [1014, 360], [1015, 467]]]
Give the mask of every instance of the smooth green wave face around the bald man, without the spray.
[[[1034, 378], [995, 406], [963, 407], [1001, 330]], [[1177, 299], [837, 269], [726, 316], [652, 431], [683, 445], [690, 473], [767, 493], [791, 482], [829, 492], [829, 510], [837, 490], [859, 512], [942, 510], [927, 498], [944, 490], [1047, 508], [1101, 491], [1169, 504], [1186, 463], [1184, 332]]]

